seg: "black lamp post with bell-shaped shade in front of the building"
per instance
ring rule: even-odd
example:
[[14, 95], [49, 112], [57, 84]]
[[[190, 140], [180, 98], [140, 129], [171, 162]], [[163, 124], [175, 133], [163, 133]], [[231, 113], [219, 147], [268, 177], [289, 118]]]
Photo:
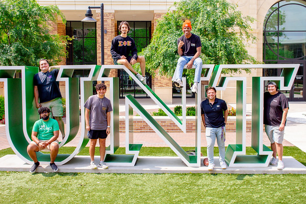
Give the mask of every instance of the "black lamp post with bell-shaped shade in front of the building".
[[91, 12], [91, 9], [100, 9], [101, 11], [101, 19], [100, 19], [100, 23], [101, 23], [101, 65], [104, 65], [104, 4], [102, 3], [101, 6], [99, 7], [91, 7], [89, 6], [86, 14], [85, 14], [85, 18], [81, 21], [83, 22], [96, 22], [96, 20], [92, 17], [93, 14]]

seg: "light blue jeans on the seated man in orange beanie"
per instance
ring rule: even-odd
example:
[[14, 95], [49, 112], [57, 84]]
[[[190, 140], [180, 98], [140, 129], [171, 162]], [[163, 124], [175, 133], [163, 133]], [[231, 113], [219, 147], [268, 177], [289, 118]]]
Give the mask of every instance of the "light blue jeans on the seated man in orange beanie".
[[[172, 78], [172, 81], [175, 81], [177, 79], [182, 80], [182, 74], [184, 66], [193, 58], [193, 56], [182, 56], [177, 60], [176, 69]], [[194, 74], [194, 82], [199, 83], [201, 79], [201, 72], [202, 72], [202, 59], [196, 58], [193, 61], [193, 65], [195, 66], [195, 74]]]

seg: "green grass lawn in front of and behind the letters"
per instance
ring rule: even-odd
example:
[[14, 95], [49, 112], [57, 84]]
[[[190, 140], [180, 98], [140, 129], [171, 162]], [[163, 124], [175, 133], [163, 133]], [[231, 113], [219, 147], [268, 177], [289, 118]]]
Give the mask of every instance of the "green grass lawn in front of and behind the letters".
[[[73, 149], [60, 150], [69, 153]], [[118, 151], [124, 154], [124, 148]], [[201, 151], [206, 155], [206, 147]], [[0, 151], [0, 157], [7, 154], [14, 152], [11, 148]], [[247, 147], [247, 154], [254, 151]], [[88, 155], [88, 148], [79, 155]], [[169, 147], [142, 147], [140, 156], [176, 155]], [[292, 156], [306, 165], [306, 153], [297, 147], [284, 147], [284, 156]], [[0, 203], [306, 203], [304, 174], [1, 171], [0, 180]]]

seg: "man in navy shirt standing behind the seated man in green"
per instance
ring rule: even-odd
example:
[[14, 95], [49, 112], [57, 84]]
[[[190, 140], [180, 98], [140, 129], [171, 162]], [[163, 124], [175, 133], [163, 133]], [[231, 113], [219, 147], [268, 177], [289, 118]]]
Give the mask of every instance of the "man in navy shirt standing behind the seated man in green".
[[54, 117], [57, 120], [62, 133], [62, 139], [64, 139], [62, 95], [56, 81], [59, 73], [57, 68], [60, 68], [60, 66], [49, 67], [49, 62], [46, 59], [41, 59], [39, 60], [39, 67], [41, 71], [35, 74], [33, 79], [36, 108], [47, 107], [51, 110], [50, 118]]

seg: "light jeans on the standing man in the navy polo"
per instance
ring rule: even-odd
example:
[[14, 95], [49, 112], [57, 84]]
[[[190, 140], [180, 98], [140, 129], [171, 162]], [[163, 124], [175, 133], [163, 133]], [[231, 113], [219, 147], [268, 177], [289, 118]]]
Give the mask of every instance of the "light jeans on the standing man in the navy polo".
[[[223, 132], [223, 134], [222, 134]], [[208, 163], [214, 164], [214, 146], [217, 138], [217, 144], [219, 147], [219, 161], [225, 160], [225, 126], [222, 127], [206, 127], [206, 141], [207, 141], [207, 157]]]

